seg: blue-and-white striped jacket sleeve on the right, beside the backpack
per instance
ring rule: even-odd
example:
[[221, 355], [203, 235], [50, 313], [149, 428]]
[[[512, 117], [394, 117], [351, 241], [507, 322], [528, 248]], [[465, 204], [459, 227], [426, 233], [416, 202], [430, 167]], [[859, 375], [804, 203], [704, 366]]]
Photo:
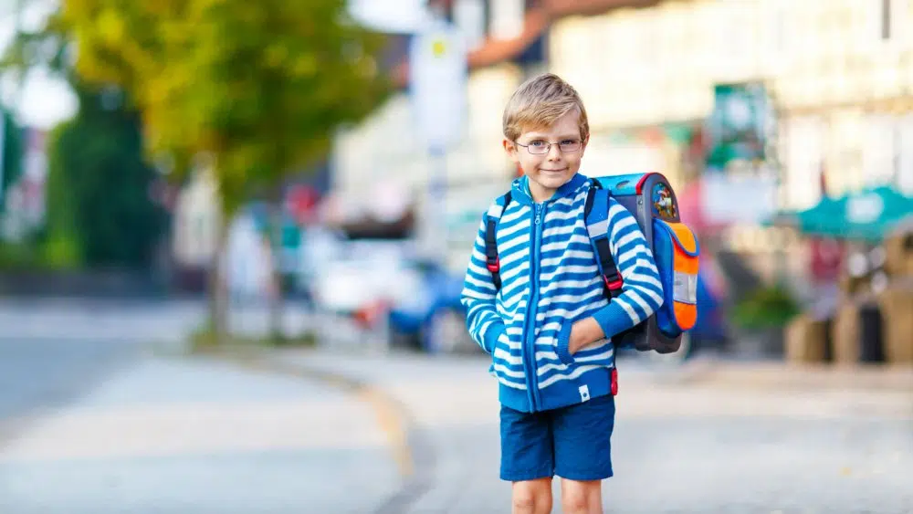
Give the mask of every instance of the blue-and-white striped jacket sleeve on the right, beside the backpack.
[[614, 198], [609, 200], [609, 231], [609, 247], [624, 285], [621, 295], [593, 314], [607, 338], [646, 320], [663, 305], [653, 252], [634, 215]]

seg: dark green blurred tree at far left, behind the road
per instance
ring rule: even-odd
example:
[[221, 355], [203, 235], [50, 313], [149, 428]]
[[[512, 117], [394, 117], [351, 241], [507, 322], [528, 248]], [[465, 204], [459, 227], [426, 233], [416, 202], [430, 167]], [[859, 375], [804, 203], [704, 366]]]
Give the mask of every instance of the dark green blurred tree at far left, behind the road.
[[149, 195], [156, 173], [143, 160], [139, 116], [110, 92], [78, 92], [79, 113], [49, 150], [48, 257], [148, 268], [166, 216]]

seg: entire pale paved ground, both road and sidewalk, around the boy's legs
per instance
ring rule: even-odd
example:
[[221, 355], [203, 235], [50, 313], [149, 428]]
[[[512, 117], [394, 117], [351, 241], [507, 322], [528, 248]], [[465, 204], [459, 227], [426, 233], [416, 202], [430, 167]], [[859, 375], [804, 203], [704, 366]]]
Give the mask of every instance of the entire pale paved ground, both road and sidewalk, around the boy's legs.
[[[0, 302], [0, 512], [509, 511], [485, 357], [173, 354], [203, 312]], [[913, 512], [913, 370], [620, 368], [607, 512]]]

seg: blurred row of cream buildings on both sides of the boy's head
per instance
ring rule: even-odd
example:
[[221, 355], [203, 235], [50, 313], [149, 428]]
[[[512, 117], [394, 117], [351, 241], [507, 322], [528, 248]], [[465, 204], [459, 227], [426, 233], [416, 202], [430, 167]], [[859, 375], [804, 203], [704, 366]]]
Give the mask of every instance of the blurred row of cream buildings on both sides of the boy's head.
[[[703, 194], [699, 203], [718, 217], [740, 222], [722, 233], [725, 245], [758, 257], [767, 271], [779, 249], [801, 257], [792, 263], [805, 260], [788, 232], [756, 223], [772, 210], [866, 185], [913, 194], [913, 40], [903, 30], [913, 5], [906, 0], [430, 4], [471, 45], [465, 142], [446, 156], [443, 208], [455, 269], [465, 266], [478, 214], [515, 174], [500, 148], [503, 106], [523, 79], [544, 70], [568, 79], [587, 105], [592, 135], [583, 173], [665, 173], [677, 190]], [[405, 64], [397, 72], [405, 86]], [[435, 170], [412, 116], [404, 90], [341, 133], [332, 157], [331, 189], [344, 206], [337, 215], [389, 214], [393, 205], [424, 211]], [[769, 180], [711, 187], [713, 179], [752, 173]], [[690, 189], [698, 177], [705, 187]], [[431, 227], [419, 220], [419, 239], [434, 236]]]

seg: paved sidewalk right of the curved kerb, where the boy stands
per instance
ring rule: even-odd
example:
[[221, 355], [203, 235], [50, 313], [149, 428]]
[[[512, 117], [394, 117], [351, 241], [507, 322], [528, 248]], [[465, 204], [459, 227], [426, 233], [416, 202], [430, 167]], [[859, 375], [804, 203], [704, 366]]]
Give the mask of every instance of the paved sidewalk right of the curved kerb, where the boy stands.
[[[398, 419], [384, 425], [408, 479], [380, 512], [509, 509], [487, 357], [276, 351], [259, 362], [335, 377]], [[636, 360], [619, 369], [607, 511], [913, 510], [903, 478], [913, 476], [913, 370]]]

